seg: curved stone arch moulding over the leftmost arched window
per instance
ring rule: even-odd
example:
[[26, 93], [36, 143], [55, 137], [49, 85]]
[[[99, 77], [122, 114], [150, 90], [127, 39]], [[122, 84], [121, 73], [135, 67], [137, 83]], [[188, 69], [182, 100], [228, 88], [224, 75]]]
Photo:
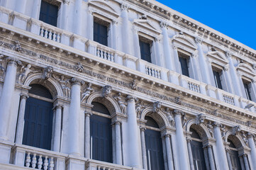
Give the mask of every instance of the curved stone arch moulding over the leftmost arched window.
[[29, 75], [24, 82], [24, 86], [30, 86], [30, 84], [42, 84], [43, 86], [47, 87], [53, 98], [55, 96], [64, 97], [60, 84], [52, 77], [47, 80], [43, 79], [43, 73]]

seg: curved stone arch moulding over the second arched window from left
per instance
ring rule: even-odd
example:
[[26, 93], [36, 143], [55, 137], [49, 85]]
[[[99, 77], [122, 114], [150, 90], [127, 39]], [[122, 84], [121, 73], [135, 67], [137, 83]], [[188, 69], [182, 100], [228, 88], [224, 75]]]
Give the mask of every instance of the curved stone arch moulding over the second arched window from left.
[[116, 100], [110, 95], [106, 98], [102, 97], [101, 91], [96, 91], [93, 94], [91, 94], [87, 99], [87, 104], [91, 105], [92, 101], [98, 101], [99, 103], [104, 104], [104, 106], [108, 108], [108, 111], [111, 113], [111, 115], [115, 113], [121, 113], [121, 108], [116, 102]]

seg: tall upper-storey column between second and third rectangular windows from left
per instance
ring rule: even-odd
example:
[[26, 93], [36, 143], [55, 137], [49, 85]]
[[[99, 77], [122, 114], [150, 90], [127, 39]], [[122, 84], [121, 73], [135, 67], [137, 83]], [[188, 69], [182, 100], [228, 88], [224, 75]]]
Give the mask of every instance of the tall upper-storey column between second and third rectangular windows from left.
[[121, 17], [123, 18], [123, 26], [122, 26], [122, 35], [123, 35], [123, 52], [131, 55], [131, 40], [130, 40], [130, 26], [129, 26], [129, 18], [128, 18], [128, 4], [121, 4]]

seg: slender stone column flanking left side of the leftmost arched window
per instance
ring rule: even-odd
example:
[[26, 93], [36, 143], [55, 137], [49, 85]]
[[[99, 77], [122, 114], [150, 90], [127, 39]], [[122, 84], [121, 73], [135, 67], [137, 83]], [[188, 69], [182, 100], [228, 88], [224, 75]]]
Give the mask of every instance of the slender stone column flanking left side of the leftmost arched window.
[[18, 122], [16, 130], [16, 144], [22, 144], [23, 140], [23, 129], [24, 129], [24, 116], [26, 108], [27, 94], [21, 94], [20, 108], [18, 109]]

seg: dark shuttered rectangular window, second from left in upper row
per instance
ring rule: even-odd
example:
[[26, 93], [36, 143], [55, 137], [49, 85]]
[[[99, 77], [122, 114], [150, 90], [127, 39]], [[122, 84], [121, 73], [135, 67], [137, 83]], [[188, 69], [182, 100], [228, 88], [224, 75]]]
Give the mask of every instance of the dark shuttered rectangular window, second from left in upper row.
[[94, 41], [108, 46], [108, 26], [94, 21]]

